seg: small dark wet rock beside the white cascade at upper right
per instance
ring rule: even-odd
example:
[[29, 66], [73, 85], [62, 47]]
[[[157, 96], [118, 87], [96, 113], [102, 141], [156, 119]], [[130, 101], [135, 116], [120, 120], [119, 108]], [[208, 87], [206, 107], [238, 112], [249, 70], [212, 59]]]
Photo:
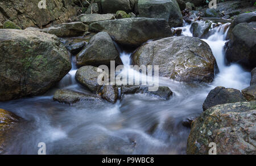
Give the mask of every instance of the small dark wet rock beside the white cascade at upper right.
[[209, 22], [209, 20], [193, 22], [191, 26], [193, 37], [199, 37], [200, 39], [206, 37], [211, 25], [212, 22]]

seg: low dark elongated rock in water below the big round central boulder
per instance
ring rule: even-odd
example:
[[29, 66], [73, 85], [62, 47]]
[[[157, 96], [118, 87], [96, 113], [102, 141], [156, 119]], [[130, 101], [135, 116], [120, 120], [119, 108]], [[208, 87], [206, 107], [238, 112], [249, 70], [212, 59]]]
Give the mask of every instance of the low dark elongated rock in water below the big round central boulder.
[[122, 86], [121, 95], [144, 93], [146, 95], [157, 96], [160, 99], [168, 100], [172, 96], [172, 91], [169, 87], [160, 86], [157, 91], [148, 91], [147, 86]]

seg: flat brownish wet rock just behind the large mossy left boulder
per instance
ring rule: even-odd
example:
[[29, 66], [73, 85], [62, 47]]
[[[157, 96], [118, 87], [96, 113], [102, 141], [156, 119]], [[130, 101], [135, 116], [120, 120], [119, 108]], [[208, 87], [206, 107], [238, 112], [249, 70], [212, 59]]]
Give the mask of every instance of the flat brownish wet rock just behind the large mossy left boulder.
[[63, 23], [44, 28], [40, 31], [56, 35], [57, 37], [82, 36], [88, 31], [88, 25], [82, 22]]

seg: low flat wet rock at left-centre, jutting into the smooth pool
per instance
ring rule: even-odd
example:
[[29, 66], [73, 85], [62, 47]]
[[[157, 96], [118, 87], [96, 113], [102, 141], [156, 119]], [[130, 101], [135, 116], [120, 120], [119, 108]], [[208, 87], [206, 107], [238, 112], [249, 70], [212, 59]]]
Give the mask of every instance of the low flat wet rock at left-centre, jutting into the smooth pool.
[[88, 101], [101, 101], [98, 95], [86, 94], [81, 92], [76, 92], [72, 90], [57, 90], [54, 93], [53, 100], [59, 101], [60, 103], [73, 104], [81, 100]]

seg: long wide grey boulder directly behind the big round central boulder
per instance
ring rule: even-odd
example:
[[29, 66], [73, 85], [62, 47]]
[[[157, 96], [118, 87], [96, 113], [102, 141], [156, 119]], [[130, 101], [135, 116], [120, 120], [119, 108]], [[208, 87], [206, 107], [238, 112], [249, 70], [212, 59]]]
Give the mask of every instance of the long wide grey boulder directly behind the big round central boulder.
[[119, 44], [135, 46], [150, 39], [172, 36], [171, 28], [166, 20], [151, 18], [106, 20], [90, 24], [89, 30], [108, 32]]

